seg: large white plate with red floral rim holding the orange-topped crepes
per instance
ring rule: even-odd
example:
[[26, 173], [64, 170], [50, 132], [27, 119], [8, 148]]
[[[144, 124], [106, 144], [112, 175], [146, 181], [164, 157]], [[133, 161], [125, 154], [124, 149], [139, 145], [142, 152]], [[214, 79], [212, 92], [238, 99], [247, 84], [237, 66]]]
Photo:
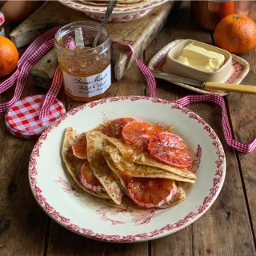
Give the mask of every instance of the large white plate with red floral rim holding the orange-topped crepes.
[[[142, 118], [174, 126], [194, 154], [196, 182], [186, 199], [168, 209], [120, 210], [96, 202], [78, 189], [63, 168], [61, 146], [68, 126], [87, 131], [106, 120]], [[30, 156], [29, 180], [46, 214], [66, 229], [106, 242], [142, 242], [182, 230], [206, 213], [222, 189], [226, 158], [214, 130], [186, 107], [140, 96], [104, 98], [78, 106], [49, 126]]]

